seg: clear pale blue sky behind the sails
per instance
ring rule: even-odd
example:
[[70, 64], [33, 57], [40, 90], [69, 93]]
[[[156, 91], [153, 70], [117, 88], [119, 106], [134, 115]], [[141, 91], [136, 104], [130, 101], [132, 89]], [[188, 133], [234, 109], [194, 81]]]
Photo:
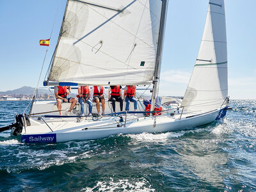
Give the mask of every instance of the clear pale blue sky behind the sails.
[[[35, 87], [51, 36], [40, 86], [58, 39], [66, 0], [0, 1], [0, 91]], [[207, 0], [169, 0], [159, 95], [182, 96], [204, 30]], [[228, 89], [231, 99], [256, 99], [255, 0], [226, 0]]]

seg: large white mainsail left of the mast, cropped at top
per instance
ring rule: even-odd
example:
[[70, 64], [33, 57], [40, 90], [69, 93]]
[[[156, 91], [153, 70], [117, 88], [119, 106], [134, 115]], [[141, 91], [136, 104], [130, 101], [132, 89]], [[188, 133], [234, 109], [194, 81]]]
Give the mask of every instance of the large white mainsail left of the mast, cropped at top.
[[151, 83], [161, 6], [161, 0], [68, 0], [48, 80]]

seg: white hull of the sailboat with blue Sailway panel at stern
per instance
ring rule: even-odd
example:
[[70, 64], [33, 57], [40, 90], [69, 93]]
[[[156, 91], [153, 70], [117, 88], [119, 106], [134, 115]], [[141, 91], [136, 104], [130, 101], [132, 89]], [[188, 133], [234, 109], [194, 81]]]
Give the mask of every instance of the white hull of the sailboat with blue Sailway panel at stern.
[[[221, 109], [223, 111], [223, 109]], [[168, 114], [156, 118], [127, 115], [127, 121], [120, 122], [117, 116], [106, 116], [93, 121], [92, 118], [77, 122], [76, 118], [31, 119], [31, 125], [22, 129], [20, 141], [23, 143], [55, 143], [70, 140], [93, 140], [113, 134], [139, 134], [142, 132], [168, 132], [192, 129], [214, 122], [220, 109], [201, 114]], [[125, 118], [125, 116], [124, 116]], [[51, 127], [51, 129], [48, 127]]]

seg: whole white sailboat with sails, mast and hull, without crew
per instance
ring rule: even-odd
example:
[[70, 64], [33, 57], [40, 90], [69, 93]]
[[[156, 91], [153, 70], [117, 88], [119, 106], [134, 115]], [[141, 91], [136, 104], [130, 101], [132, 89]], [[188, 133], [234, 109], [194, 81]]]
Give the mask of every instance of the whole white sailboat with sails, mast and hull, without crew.
[[[224, 0], [210, 0], [195, 67], [179, 109], [168, 99], [155, 113], [168, 0], [68, 0], [45, 86], [152, 84], [151, 108], [102, 117], [59, 116], [55, 101], [33, 101], [15, 116], [12, 135], [22, 143], [93, 140], [113, 134], [193, 129], [223, 118], [228, 109]], [[140, 100], [139, 100], [140, 103]], [[108, 106], [108, 104], [107, 104]], [[132, 106], [131, 106], [132, 107]], [[62, 108], [69, 108], [64, 103]]]

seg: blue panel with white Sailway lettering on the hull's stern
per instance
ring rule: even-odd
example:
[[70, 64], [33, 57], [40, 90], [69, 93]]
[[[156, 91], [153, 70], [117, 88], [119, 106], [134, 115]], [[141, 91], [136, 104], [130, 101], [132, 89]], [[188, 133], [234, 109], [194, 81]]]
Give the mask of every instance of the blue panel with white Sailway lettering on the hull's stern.
[[20, 138], [22, 143], [56, 143], [56, 134], [25, 134]]

